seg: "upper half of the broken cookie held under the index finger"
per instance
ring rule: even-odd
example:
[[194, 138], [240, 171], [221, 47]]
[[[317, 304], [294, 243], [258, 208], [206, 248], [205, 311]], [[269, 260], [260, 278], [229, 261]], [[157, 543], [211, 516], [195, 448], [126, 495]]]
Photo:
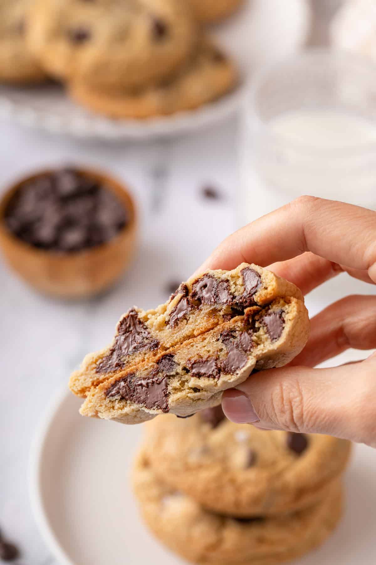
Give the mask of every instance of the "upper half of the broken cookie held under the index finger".
[[[112, 345], [85, 357], [81, 368], [70, 378], [70, 389], [85, 398], [93, 386], [110, 377], [121, 377], [124, 371], [167, 353], [171, 347], [244, 316], [246, 308], [253, 309], [247, 311], [249, 319], [252, 312], [257, 314], [260, 308], [278, 297], [297, 300], [286, 303], [280, 315], [273, 314], [270, 318], [267, 311], [264, 312], [267, 316], [264, 327], [268, 324], [271, 332], [271, 337], [266, 339], [272, 349], [281, 344], [277, 339], [278, 328], [285, 327], [284, 316], [287, 315], [286, 332], [290, 337], [285, 346], [288, 342], [291, 358], [304, 346], [308, 336], [308, 316], [302, 293], [297, 286], [271, 271], [242, 263], [233, 271], [206, 271], [191, 277], [182, 282], [165, 304], [154, 310], [131, 308], [118, 322]], [[243, 321], [244, 329], [249, 329], [249, 323]], [[299, 329], [291, 334], [293, 327]]]

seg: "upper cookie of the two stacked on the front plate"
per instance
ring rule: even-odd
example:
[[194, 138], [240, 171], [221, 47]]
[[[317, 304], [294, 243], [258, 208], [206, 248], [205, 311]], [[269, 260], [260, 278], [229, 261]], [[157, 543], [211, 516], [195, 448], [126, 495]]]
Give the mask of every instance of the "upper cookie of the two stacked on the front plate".
[[283, 515], [314, 505], [351, 454], [346, 440], [232, 423], [221, 406], [189, 419], [157, 418], [145, 431], [158, 478], [211, 511], [238, 517]]

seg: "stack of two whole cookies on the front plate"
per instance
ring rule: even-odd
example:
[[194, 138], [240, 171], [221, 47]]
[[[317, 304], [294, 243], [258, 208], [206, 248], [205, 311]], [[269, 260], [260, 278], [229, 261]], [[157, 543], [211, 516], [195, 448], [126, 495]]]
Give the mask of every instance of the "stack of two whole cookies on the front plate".
[[146, 424], [134, 467], [158, 540], [202, 565], [272, 565], [319, 546], [342, 513], [350, 444], [233, 424], [222, 408]]

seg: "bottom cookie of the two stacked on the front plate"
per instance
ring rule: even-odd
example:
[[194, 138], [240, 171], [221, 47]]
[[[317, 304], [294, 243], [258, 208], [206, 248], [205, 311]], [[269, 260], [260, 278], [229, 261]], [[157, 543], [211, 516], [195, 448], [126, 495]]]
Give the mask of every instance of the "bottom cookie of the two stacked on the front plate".
[[170, 549], [202, 565], [272, 564], [319, 546], [342, 514], [342, 485], [309, 509], [290, 515], [233, 518], [205, 510], [156, 477], [147, 453], [136, 460], [133, 484], [145, 523]]

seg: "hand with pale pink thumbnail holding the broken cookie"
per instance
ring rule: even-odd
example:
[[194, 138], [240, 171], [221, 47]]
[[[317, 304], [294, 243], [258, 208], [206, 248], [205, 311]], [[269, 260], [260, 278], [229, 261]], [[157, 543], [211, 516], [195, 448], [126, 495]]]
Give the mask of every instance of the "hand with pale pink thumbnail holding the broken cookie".
[[[199, 271], [244, 261], [268, 267], [303, 294], [344, 271], [376, 284], [376, 212], [300, 197], [233, 233]], [[313, 368], [349, 347], [376, 348], [376, 295], [370, 292], [315, 316], [306, 347], [289, 366], [255, 373], [227, 390], [225, 415], [260, 429], [324, 433], [376, 447], [376, 353], [355, 364]]]

